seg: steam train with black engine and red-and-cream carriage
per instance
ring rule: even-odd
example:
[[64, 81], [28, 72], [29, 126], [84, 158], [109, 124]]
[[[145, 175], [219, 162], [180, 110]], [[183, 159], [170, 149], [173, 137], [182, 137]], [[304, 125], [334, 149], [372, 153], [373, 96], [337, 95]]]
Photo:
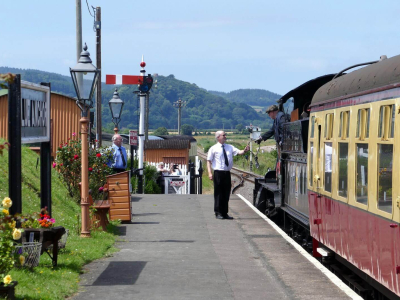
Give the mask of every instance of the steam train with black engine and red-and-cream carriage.
[[315, 256], [333, 253], [375, 289], [368, 297], [398, 298], [400, 56], [368, 64], [279, 100], [294, 106], [280, 172], [256, 181], [253, 201]]

